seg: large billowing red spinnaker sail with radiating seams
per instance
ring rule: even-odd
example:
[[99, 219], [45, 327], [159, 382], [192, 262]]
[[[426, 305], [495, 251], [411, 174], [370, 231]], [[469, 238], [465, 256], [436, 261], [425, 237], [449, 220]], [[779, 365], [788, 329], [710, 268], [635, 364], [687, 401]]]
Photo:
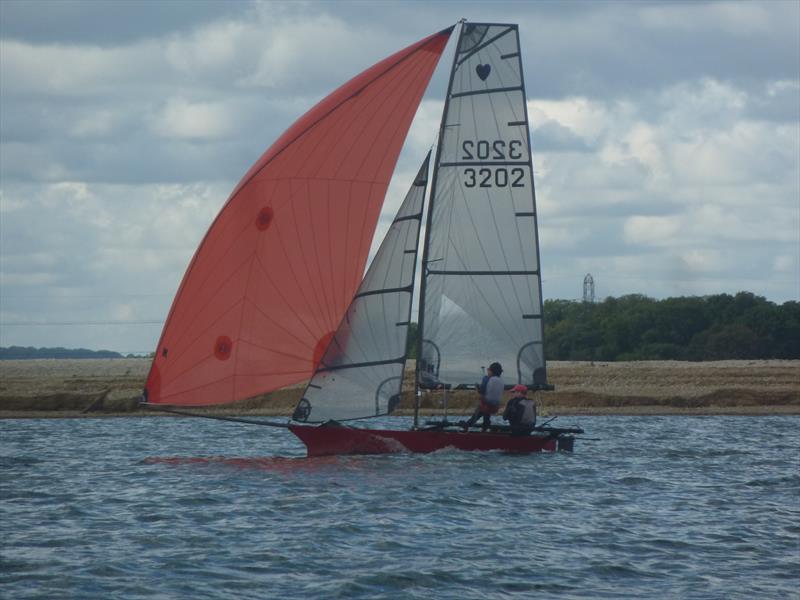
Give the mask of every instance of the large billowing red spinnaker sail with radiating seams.
[[344, 84], [253, 165], [183, 277], [148, 402], [222, 404], [311, 377], [361, 282], [400, 149], [451, 31]]

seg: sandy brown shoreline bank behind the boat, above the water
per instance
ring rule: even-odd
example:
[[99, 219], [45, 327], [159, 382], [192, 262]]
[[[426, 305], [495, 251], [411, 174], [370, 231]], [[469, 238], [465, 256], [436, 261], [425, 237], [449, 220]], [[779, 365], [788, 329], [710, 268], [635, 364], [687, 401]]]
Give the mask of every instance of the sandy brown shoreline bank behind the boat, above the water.
[[[138, 408], [149, 366], [145, 359], [0, 361], [0, 418], [152, 414]], [[800, 414], [798, 360], [551, 362], [548, 373], [556, 391], [536, 397], [550, 414]], [[406, 388], [401, 414], [413, 407]], [[288, 415], [302, 391], [298, 385], [205, 410]], [[447, 402], [453, 413], [471, 412], [475, 392], [451, 393]], [[438, 413], [442, 403], [441, 393], [423, 394], [423, 414]]]

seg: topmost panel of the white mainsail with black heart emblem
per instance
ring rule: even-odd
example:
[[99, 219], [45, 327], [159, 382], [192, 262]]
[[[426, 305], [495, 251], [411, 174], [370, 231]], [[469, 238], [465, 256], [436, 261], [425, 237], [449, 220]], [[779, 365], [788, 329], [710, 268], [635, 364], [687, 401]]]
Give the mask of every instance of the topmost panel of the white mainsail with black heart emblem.
[[456, 63], [454, 95], [522, 86], [517, 31], [508, 25], [490, 27], [481, 43], [458, 54]]

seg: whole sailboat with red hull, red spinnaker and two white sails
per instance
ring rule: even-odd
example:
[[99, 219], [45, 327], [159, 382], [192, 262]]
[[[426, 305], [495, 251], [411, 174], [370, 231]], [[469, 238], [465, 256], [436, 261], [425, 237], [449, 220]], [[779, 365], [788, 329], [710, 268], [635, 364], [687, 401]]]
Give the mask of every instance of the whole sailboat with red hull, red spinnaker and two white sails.
[[[572, 449], [578, 428], [512, 435], [419, 422], [421, 395], [474, 389], [494, 361], [508, 387], [552, 389], [516, 25], [460, 22], [435, 156], [362, 277], [400, 150], [455, 27], [345, 83], [247, 172], [184, 275], [144, 404], [224, 404], [307, 381], [291, 421], [267, 424], [288, 428], [310, 456]], [[399, 403], [417, 264], [413, 426], [358, 426]]]

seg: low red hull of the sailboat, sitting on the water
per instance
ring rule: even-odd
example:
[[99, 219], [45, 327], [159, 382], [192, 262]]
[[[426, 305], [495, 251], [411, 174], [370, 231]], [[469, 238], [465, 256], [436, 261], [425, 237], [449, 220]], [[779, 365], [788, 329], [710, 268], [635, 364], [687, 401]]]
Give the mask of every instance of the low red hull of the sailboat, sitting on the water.
[[437, 450], [500, 450], [517, 454], [556, 450], [552, 436], [512, 436], [504, 433], [460, 431], [396, 431], [352, 427], [290, 425], [289, 431], [306, 445], [309, 456], [336, 454], [428, 453]]

